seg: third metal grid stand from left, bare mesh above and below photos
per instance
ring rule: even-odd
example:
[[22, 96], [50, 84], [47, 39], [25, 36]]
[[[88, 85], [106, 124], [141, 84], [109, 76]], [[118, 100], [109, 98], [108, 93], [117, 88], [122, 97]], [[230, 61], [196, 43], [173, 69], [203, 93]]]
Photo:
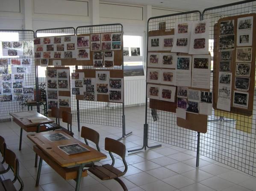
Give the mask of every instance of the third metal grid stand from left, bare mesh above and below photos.
[[[123, 34], [123, 26], [121, 24], [108, 24], [108, 25], [77, 27], [77, 35], [93, 34], [93, 33], [115, 33], [115, 32], [121, 32]], [[95, 69], [93, 66], [82, 66], [81, 68]], [[123, 64], [122, 66], [114, 66], [112, 68], [96, 68], [96, 69], [122, 70]], [[124, 115], [124, 103], [79, 100], [79, 119], [81, 123], [122, 127], [123, 115]]]

